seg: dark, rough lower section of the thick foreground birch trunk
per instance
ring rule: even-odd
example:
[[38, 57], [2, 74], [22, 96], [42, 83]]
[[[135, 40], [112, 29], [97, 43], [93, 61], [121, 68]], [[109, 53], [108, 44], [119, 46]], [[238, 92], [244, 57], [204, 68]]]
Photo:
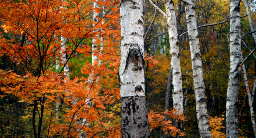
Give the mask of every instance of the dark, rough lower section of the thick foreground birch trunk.
[[150, 138], [146, 98], [121, 97], [122, 138]]

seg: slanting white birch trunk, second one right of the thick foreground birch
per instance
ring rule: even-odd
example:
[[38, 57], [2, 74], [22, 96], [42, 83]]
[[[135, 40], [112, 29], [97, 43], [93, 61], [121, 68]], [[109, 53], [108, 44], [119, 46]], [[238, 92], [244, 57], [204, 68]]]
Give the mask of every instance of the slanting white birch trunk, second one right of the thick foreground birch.
[[196, 25], [195, 6], [193, 0], [185, 0], [184, 4], [192, 60], [194, 89], [196, 93], [196, 116], [198, 120], [199, 132], [202, 138], [211, 138], [211, 129], [207, 116], [203, 66]]

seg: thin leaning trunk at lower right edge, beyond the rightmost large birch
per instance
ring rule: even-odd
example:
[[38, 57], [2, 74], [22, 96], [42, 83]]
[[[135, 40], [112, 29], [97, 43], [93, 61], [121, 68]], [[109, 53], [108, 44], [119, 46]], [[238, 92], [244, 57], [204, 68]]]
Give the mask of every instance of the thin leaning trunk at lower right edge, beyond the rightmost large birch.
[[243, 69], [243, 72], [244, 72], [244, 82], [245, 82], [246, 93], [247, 93], [247, 96], [248, 96], [249, 107], [250, 107], [250, 112], [251, 112], [252, 127], [253, 127], [254, 135], [255, 135], [255, 138], [256, 138], [256, 123], [255, 123], [253, 104], [252, 104], [252, 94], [251, 94], [251, 91], [249, 89], [246, 69], [245, 69], [244, 65], [242, 66], [242, 69]]

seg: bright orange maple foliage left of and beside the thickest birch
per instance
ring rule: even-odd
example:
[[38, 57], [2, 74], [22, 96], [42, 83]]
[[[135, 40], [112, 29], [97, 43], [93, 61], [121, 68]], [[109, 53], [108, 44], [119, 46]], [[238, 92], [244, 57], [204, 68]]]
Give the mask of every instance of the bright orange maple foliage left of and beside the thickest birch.
[[[95, 9], [94, 2], [1, 1], [0, 56], [11, 65], [0, 70], [1, 107], [6, 106], [0, 113], [1, 137], [121, 137], [119, 1], [98, 1]], [[91, 19], [93, 10], [105, 11], [99, 22]], [[101, 65], [91, 65], [92, 38]], [[148, 60], [150, 66], [157, 63]], [[70, 77], [64, 75], [67, 65]], [[165, 116], [184, 119], [174, 110], [148, 116], [152, 128], [180, 133], [163, 121]]]

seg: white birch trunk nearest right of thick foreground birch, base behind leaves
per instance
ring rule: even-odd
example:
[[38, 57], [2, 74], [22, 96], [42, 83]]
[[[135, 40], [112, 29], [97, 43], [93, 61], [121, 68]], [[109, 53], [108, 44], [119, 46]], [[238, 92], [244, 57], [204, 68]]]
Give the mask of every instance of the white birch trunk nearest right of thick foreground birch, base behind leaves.
[[180, 67], [180, 51], [178, 43], [178, 32], [176, 26], [176, 15], [173, 0], [165, 1], [167, 12], [167, 28], [170, 42], [171, 67], [173, 76], [173, 108], [180, 109], [179, 114], [183, 113], [183, 92]]

